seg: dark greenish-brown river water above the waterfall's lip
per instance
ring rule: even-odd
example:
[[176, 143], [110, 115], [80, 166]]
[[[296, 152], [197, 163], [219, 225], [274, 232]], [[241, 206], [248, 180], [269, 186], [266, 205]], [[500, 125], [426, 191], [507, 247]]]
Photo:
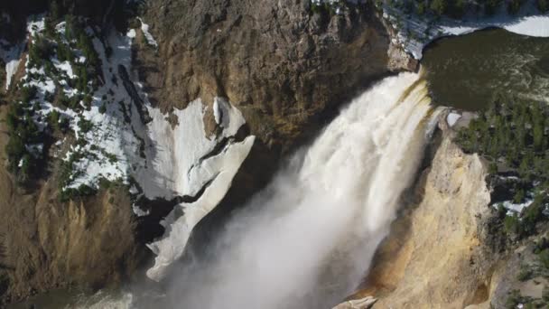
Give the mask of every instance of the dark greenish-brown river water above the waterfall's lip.
[[437, 40], [423, 52], [433, 102], [469, 111], [496, 94], [549, 103], [549, 39], [502, 29]]

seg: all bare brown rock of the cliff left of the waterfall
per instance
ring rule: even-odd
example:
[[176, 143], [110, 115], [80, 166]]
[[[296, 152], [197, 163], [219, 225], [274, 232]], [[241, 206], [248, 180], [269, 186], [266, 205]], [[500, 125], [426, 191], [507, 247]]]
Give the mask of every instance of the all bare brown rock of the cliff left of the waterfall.
[[[87, 16], [99, 26], [98, 38], [107, 46], [113, 21], [124, 29], [126, 20], [120, 25], [114, 17], [126, 18], [120, 11], [123, 3], [107, 1], [94, 6], [100, 9], [86, 9], [82, 2], [64, 1], [60, 14]], [[48, 5], [43, 1], [29, 5], [3, 2], [1, 7], [10, 16], [10, 27], [3, 27], [0, 34], [14, 43], [26, 40], [27, 15]], [[203, 229], [265, 184], [279, 159], [315, 136], [346, 99], [377, 78], [407, 66], [405, 55], [398, 54], [398, 61], [394, 52], [393, 58], [388, 55], [390, 35], [369, 3], [349, 4], [334, 14], [313, 12], [306, 0], [153, 0], [140, 13], [158, 44], [145, 43], [145, 34], [150, 33], [144, 33], [143, 26], [140, 30], [137, 19], [128, 20], [135, 28], [130, 75], [143, 82], [141, 90], [154, 108], [167, 113], [166, 121], [174, 121], [173, 108], [186, 108], [191, 100], [201, 98], [209, 107], [203, 119], [206, 134], [218, 135], [212, 105], [215, 97], [225, 97], [246, 118], [245, 135], [258, 137], [221, 202], [220, 212], [209, 216], [213, 219], [206, 218]], [[24, 65], [21, 61], [15, 79], [22, 77]], [[116, 70], [104, 69], [106, 76], [116, 75]], [[116, 76], [112, 80], [110, 86], [121, 89]], [[3, 100], [12, 104], [17, 90], [5, 91], [4, 84], [2, 89]], [[110, 92], [105, 95], [111, 96]], [[0, 136], [2, 149], [7, 138]], [[61, 146], [65, 150], [71, 139], [66, 141]], [[95, 196], [60, 201], [60, 164], [45, 165], [44, 173], [33, 175], [35, 182], [25, 188], [5, 166], [0, 169], [0, 210], [9, 221], [0, 228], [7, 301], [70, 284], [98, 288], [120, 282], [144, 262], [140, 240], [151, 236], [143, 233], [169, 212], [168, 207], [163, 216], [155, 215], [153, 223], [135, 218], [124, 185], [101, 188]], [[149, 206], [162, 203], [166, 202]]]

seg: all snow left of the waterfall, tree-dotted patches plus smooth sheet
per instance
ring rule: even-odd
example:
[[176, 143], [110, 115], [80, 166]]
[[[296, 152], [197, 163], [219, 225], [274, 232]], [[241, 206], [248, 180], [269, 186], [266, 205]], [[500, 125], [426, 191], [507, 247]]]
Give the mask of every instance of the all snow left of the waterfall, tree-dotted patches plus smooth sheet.
[[[73, 61], [79, 61], [83, 52], [76, 42], [64, 38], [64, 23], [55, 28], [59, 33], [55, 40], [66, 43]], [[29, 22], [27, 29], [33, 38], [43, 35], [43, 16]], [[27, 103], [36, 107], [33, 120], [42, 130], [50, 126], [47, 119], [56, 111], [60, 118], [68, 120], [76, 137], [75, 145], [62, 155], [70, 172], [61, 181], [63, 192], [98, 189], [99, 183], [107, 180], [126, 183], [132, 195], [150, 200], [187, 197], [163, 220], [163, 238], [149, 245], [158, 257], [148, 273], [158, 280], [166, 267], [181, 257], [191, 229], [228, 192], [255, 136], [237, 139], [237, 131], [246, 121], [237, 108], [222, 98], [214, 98], [213, 104], [221, 128], [219, 136], [206, 136], [203, 118], [208, 107], [200, 98], [187, 108], [163, 114], [151, 105], [141, 84], [131, 80], [135, 31], [98, 35], [91, 27], [85, 30], [101, 65], [99, 78], [86, 80], [82, 86], [73, 62], [59, 61], [55, 52], [41, 63], [30, 63], [27, 57], [23, 86], [37, 90], [36, 97]], [[145, 25], [144, 33], [147, 30]], [[107, 48], [111, 51], [108, 55]], [[53, 69], [46, 70], [48, 61]], [[79, 87], [75, 87], [78, 83]], [[56, 103], [65, 108], [51, 102], [57, 90], [70, 99], [69, 103]], [[56, 143], [58, 147], [61, 144]], [[27, 147], [29, 152], [42, 152], [42, 145]], [[149, 214], [139, 205], [134, 206], [136, 215]]]

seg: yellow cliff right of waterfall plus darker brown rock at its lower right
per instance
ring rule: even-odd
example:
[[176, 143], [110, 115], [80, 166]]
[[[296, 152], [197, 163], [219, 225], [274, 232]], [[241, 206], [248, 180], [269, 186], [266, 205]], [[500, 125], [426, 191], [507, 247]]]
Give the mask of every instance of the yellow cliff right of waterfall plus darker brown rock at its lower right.
[[373, 308], [470, 309], [526, 304], [528, 298], [516, 295], [542, 299], [543, 271], [524, 272], [539, 265], [534, 244], [544, 233], [521, 244], [509, 241], [490, 206], [486, 164], [454, 144], [445, 116], [410, 206], [393, 223], [352, 298], [374, 296]]

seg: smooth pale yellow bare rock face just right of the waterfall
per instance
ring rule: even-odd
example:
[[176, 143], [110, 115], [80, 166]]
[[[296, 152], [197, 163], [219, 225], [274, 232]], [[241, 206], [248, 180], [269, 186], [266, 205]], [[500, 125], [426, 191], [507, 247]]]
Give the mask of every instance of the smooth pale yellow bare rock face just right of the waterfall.
[[490, 246], [487, 172], [447, 128], [442, 135], [419, 202], [394, 222], [360, 292], [379, 298], [375, 308], [463, 308], [489, 299], [500, 255]]

